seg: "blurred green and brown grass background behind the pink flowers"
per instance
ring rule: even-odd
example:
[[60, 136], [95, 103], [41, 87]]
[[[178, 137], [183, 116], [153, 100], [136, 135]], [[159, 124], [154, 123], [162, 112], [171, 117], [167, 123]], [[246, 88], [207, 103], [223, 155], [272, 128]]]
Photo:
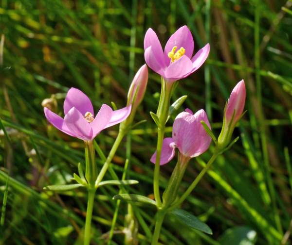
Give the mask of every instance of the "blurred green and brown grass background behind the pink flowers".
[[[183, 204], [211, 227], [213, 235], [190, 230], [169, 217], [161, 242], [291, 244], [291, 5], [291, 0], [0, 0], [0, 34], [5, 36], [0, 57], [3, 211], [6, 204], [0, 245], [80, 244], [86, 193], [78, 189], [56, 194], [42, 188], [70, 181], [77, 163], [84, 162], [83, 143], [48, 125], [42, 101], [48, 98], [46, 106], [62, 115], [63, 99], [73, 86], [83, 90], [95, 108], [110, 101], [125, 106], [128, 86], [145, 62], [147, 28], [165, 44], [182, 25], [193, 33], [195, 49], [210, 42], [211, 53], [198, 72], [179, 82], [173, 99], [186, 94], [183, 108], [205, 108], [219, 135], [225, 101], [244, 79], [248, 111], [235, 131], [240, 140], [218, 158]], [[149, 158], [156, 133], [149, 111], [156, 111], [160, 78], [150, 69], [149, 74], [136, 115], [137, 122], [147, 122], [132, 130], [119, 147], [112, 169], [121, 178], [128, 158], [128, 177], [140, 182], [128, 191], [151, 197], [154, 166]], [[172, 120], [167, 124], [169, 135]], [[116, 135], [113, 127], [96, 138], [105, 155]], [[212, 150], [191, 161], [181, 192]], [[98, 158], [99, 167], [102, 163]], [[174, 164], [161, 168], [162, 188]], [[127, 204], [116, 208], [112, 196], [117, 193], [113, 187], [97, 193], [92, 244], [123, 244]], [[133, 212], [139, 222], [139, 244], [147, 245], [154, 212], [138, 206]]]

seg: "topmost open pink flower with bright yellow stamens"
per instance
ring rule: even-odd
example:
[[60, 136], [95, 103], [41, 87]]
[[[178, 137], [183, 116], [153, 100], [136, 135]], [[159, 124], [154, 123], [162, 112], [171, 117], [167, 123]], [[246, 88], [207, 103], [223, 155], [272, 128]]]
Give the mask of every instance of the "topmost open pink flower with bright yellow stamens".
[[144, 38], [146, 64], [168, 82], [189, 76], [201, 67], [209, 55], [205, 45], [194, 56], [194, 40], [190, 30], [183, 26], [168, 39], [164, 51], [156, 33], [149, 28]]

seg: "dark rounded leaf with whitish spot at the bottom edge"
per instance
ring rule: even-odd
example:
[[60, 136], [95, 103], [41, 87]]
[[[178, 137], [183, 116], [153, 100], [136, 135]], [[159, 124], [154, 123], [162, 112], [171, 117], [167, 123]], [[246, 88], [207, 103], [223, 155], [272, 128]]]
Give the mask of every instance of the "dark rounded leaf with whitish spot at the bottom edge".
[[254, 245], [256, 243], [256, 231], [245, 226], [227, 229], [219, 239], [219, 243], [222, 245]]

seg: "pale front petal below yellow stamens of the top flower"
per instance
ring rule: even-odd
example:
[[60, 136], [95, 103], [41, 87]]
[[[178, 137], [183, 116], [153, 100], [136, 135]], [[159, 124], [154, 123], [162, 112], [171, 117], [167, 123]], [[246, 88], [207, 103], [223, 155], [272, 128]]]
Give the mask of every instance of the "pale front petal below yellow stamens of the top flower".
[[178, 61], [169, 65], [165, 70], [164, 78], [166, 80], [180, 80], [191, 72], [193, 63], [186, 56], [183, 55]]

